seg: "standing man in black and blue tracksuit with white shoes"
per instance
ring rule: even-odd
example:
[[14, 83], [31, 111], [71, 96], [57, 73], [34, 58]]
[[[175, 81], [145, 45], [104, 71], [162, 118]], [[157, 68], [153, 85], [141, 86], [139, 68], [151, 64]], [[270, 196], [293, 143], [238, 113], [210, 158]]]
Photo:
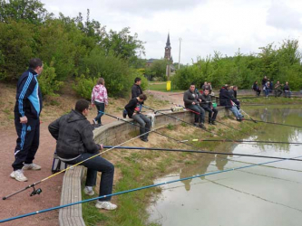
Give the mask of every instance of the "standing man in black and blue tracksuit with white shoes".
[[29, 69], [18, 80], [15, 96], [15, 146], [14, 172], [10, 174], [17, 181], [27, 181], [23, 170], [40, 170], [40, 165], [33, 163], [39, 147], [40, 113], [42, 95], [37, 76], [43, 71], [43, 63], [34, 58], [29, 61]]

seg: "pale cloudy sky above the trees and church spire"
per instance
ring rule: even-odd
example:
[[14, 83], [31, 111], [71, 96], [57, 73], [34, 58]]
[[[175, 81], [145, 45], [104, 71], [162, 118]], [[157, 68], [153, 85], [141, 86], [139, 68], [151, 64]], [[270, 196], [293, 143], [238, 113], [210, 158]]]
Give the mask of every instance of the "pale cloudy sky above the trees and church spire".
[[[161, 59], [170, 33], [174, 62], [191, 64], [214, 52], [232, 56], [258, 53], [285, 39], [302, 43], [301, 0], [41, 0], [51, 13], [81, 12], [107, 31], [130, 27], [145, 42], [142, 58]], [[181, 38], [181, 51], [180, 51]]]

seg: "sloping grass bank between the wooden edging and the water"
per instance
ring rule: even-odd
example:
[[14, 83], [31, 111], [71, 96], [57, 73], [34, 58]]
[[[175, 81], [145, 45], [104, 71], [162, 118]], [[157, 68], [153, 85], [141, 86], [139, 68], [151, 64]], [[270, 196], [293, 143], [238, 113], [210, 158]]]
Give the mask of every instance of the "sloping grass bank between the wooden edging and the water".
[[[237, 127], [240, 132], [221, 125], [207, 125], [207, 127], [210, 131], [230, 139], [241, 138], [243, 137], [242, 132], [248, 133], [258, 127], [257, 124], [250, 122], [239, 123], [230, 118], [220, 119], [232, 127]], [[213, 137], [211, 134], [199, 128], [190, 127], [187, 124], [179, 126], [169, 125], [168, 127], [161, 129], [160, 132], [179, 140]], [[137, 134], [132, 134], [131, 137], [136, 135]], [[194, 149], [190, 146], [185, 146], [184, 144], [175, 143], [166, 137], [156, 134], [151, 134], [149, 139], [150, 141], [148, 143], [135, 140], [132, 143], [127, 144], [127, 146]], [[190, 141], [189, 143], [196, 146], [195, 149], [202, 150], [214, 150], [216, 146], [220, 145], [220, 143], [217, 142], [204, 143]], [[200, 163], [200, 158], [204, 157], [204, 155], [145, 150], [113, 150], [104, 157], [116, 166], [117, 178], [115, 179], [113, 193], [118, 193], [153, 184], [153, 181], [156, 178], [161, 177], [164, 174], [175, 172], [186, 165], [197, 165]], [[157, 187], [116, 196], [113, 198], [112, 202], [117, 203], [119, 207], [114, 212], [100, 212], [94, 208], [94, 202], [84, 203], [84, 221], [87, 225], [158, 225], [157, 223], [147, 221], [149, 217], [147, 208], [151, 203], [151, 197], [154, 197], [159, 193], [161, 193], [161, 188]], [[83, 199], [87, 198], [89, 197], [83, 196]]]

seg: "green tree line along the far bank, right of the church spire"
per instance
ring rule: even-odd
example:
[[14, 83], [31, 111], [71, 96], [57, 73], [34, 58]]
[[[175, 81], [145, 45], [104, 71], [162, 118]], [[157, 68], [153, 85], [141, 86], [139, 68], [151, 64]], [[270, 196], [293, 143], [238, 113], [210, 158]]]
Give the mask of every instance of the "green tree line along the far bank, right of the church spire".
[[284, 40], [278, 47], [270, 43], [259, 50], [259, 53], [250, 54], [239, 51], [233, 57], [214, 52], [213, 56], [198, 58], [191, 66], [177, 71], [172, 83], [178, 89], [188, 89], [191, 82], [200, 86], [204, 81], [211, 81], [215, 88], [231, 84], [251, 89], [254, 81], [261, 84], [267, 76], [275, 83], [288, 81], [291, 89], [302, 89], [302, 54], [297, 40]]

